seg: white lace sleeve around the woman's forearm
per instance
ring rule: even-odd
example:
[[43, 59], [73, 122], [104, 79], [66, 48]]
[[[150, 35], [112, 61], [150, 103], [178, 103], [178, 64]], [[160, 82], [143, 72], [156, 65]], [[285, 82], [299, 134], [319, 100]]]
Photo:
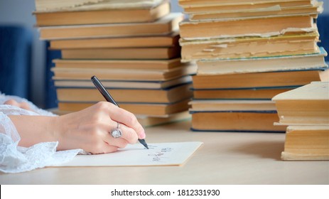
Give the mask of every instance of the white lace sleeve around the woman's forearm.
[[55, 114], [38, 109], [31, 102], [28, 103], [35, 112], [3, 104], [8, 99], [15, 99], [18, 102], [28, 102], [26, 99], [6, 96], [0, 93], [0, 171], [4, 173], [19, 173], [45, 166], [55, 166], [59, 163], [70, 161], [78, 153], [82, 152], [81, 149], [56, 151], [58, 142], [42, 142], [29, 148], [18, 146], [21, 138], [13, 122], [11, 122], [11, 119], [7, 115], [42, 114], [55, 116]]

